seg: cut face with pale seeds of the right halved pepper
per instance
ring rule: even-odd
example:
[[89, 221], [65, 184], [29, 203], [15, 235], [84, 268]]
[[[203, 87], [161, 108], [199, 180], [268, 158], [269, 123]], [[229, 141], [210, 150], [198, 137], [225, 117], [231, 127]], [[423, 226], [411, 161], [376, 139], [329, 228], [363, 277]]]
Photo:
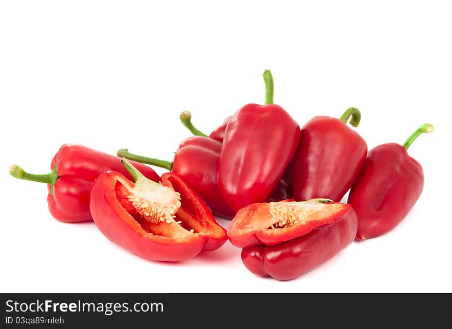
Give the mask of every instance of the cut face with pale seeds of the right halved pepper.
[[350, 208], [328, 199], [254, 203], [237, 212], [229, 225], [228, 237], [236, 247], [279, 244], [332, 223]]

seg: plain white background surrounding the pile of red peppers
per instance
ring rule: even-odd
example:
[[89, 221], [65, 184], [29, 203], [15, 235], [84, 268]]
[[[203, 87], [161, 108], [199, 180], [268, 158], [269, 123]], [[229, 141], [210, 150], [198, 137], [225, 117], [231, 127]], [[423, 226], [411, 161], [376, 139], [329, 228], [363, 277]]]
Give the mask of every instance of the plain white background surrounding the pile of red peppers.
[[[0, 291], [452, 292], [451, 16], [447, 1], [2, 2]], [[425, 187], [406, 219], [296, 280], [254, 276], [229, 242], [178, 264], [141, 259], [93, 223], [54, 220], [46, 186], [7, 173], [48, 172], [67, 142], [172, 160], [190, 136], [182, 110], [209, 133], [263, 102], [266, 68], [300, 125], [354, 106], [369, 148], [436, 128], [409, 150]]]

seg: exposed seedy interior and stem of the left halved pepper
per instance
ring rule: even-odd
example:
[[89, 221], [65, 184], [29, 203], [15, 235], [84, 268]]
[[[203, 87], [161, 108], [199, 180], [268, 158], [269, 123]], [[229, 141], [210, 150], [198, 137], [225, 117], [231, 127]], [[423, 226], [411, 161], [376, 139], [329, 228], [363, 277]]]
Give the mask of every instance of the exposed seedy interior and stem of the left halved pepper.
[[123, 164], [135, 184], [117, 177], [116, 199], [130, 215], [129, 220], [143, 229], [142, 234], [173, 240], [204, 239], [204, 250], [216, 249], [227, 240], [210, 209], [180, 178], [168, 172], [156, 183], [127, 160]]

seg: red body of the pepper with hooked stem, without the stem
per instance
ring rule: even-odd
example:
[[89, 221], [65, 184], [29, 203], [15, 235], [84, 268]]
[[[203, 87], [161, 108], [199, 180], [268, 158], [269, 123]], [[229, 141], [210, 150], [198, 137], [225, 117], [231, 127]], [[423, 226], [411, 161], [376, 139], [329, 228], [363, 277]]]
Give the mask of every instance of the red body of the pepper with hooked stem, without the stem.
[[302, 128], [291, 162], [293, 198], [340, 202], [359, 176], [366, 154], [364, 139], [341, 120], [312, 118]]

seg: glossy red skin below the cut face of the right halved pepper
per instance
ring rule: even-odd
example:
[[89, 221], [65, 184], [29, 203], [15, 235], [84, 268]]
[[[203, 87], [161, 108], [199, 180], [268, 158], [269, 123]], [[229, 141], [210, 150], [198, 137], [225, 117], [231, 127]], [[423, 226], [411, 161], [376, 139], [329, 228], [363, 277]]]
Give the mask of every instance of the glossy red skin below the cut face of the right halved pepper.
[[353, 208], [329, 225], [273, 246], [243, 248], [241, 258], [250, 272], [277, 280], [292, 280], [321, 265], [348, 246], [358, 221]]

